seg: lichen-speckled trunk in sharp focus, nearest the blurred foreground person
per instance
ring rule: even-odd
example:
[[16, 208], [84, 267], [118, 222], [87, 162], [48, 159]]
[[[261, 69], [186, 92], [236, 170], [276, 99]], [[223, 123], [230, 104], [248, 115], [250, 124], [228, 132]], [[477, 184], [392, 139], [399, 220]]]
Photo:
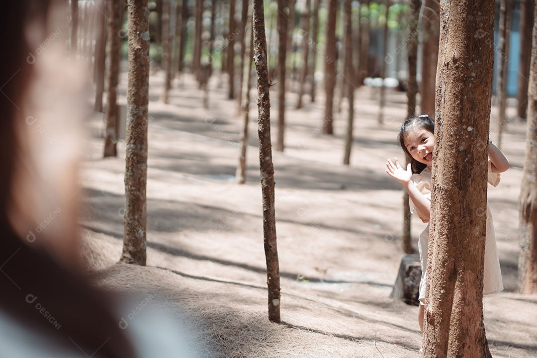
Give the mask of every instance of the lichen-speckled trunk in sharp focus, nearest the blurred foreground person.
[[130, 0], [128, 4], [125, 233], [120, 261], [146, 265], [149, 8], [148, 0]]

